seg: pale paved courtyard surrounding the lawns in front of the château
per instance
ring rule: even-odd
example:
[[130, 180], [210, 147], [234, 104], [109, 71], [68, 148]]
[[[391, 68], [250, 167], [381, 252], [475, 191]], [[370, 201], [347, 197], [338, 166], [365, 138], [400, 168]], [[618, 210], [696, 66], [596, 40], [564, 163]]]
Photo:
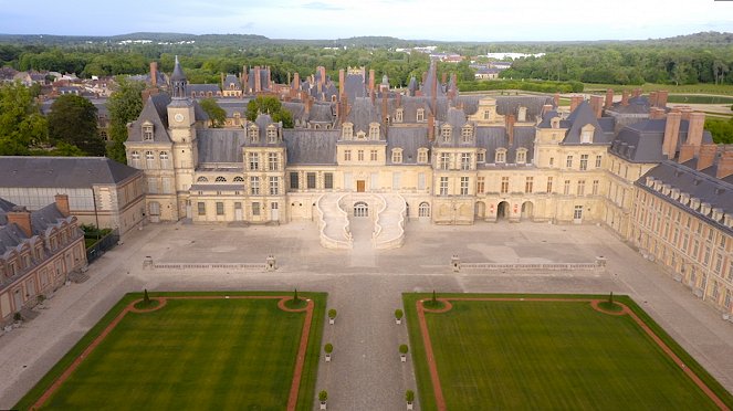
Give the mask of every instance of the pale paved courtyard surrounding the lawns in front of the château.
[[[90, 280], [61, 288], [48, 309], [0, 338], [0, 408], [10, 408], [129, 292], [317, 291], [336, 308], [324, 325], [334, 359], [321, 362], [315, 391], [328, 391], [329, 409], [404, 409], [416, 390], [411, 360], [399, 361], [405, 325], [394, 322], [405, 292], [628, 294], [729, 391], [733, 390], [733, 327], [719, 313], [595, 225], [479, 223], [439, 226], [410, 222], [401, 249], [326, 250], [315, 224], [280, 226], [154, 224], [130, 232], [124, 244], [91, 265]], [[278, 270], [150, 270], [156, 263], [264, 263]], [[451, 256], [481, 263], [593, 263], [593, 271], [452, 272]], [[379, 394], [375, 394], [379, 393]], [[316, 399], [313, 399], [316, 405]], [[419, 409], [419, 403], [417, 409]]]

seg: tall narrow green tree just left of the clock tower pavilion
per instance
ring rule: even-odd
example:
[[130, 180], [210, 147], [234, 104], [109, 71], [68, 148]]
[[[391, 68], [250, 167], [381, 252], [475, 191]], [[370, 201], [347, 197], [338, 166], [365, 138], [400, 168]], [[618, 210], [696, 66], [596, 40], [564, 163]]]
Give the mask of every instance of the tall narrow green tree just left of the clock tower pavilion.
[[119, 81], [119, 88], [112, 93], [107, 101], [109, 110], [109, 137], [113, 144], [107, 148], [107, 157], [119, 162], [127, 162], [125, 158], [125, 141], [127, 140], [127, 123], [134, 122], [143, 110], [143, 89], [145, 84]]

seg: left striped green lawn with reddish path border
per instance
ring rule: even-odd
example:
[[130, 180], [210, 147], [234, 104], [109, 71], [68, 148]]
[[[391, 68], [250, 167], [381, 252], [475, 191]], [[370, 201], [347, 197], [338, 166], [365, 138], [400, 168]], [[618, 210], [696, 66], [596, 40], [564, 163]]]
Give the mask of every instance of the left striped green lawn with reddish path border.
[[126, 296], [17, 408], [310, 410], [325, 295], [302, 294], [315, 304], [296, 312], [271, 293], [228, 295], [156, 295], [144, 312]]

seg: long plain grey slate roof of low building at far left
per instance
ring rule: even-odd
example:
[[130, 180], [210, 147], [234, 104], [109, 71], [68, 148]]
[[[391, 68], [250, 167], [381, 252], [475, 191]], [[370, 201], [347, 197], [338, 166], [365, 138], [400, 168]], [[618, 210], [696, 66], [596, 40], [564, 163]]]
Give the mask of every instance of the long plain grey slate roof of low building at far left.
[[0, 187], [91, 188], [142, 173], [106, 157], [0, 157]]

